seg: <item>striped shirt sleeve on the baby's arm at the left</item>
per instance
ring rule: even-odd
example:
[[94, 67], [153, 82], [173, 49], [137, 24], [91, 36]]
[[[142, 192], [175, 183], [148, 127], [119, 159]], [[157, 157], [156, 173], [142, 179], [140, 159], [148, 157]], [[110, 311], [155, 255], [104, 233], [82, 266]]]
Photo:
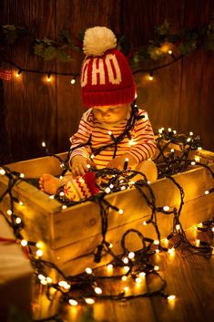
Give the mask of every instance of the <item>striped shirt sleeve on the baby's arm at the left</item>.
[[[80, 119], [77, 132], [70, 138], [72, 149], [76, 148], [79, 144], [87, 143], [93, 128], [92, 122], [93, 122], [92, 109], [88, 109], [87, 112], [85, 112], [82, 118]], [[91, 154], [91, 149], [88, 145], [84, 147], [76, 148], [71, 153], [70, 160], [76, 154], [82, 155], [83, 157], [88, 159]]]

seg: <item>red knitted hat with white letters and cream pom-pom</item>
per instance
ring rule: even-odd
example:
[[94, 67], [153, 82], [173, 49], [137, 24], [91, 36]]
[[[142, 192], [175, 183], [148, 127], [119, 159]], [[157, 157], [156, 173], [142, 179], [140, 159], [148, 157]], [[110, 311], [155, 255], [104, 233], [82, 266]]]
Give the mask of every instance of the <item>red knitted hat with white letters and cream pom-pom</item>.
[[127, 104], [135, 99], [131, 68], [116, 46], [116, 36], [107, 27], [87, 29], [81, 70], [82, 99], [87, 107]]

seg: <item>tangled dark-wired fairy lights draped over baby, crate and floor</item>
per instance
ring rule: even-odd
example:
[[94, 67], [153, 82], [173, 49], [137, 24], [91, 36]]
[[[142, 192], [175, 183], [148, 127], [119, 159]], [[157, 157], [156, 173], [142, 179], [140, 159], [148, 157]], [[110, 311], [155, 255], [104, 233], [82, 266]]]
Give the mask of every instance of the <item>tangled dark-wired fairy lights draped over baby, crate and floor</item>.
[[[136, 104], [132, 105], [132, 113], [127, 122], [127, 128], [120, 136], [115, 138], [111, 136], [111, 133], [109, 133], [109, 136], [112, 139], [112, 144], [116, 146], [116, 151], [117, 142], [123, 140], [125, 136], [129, 137], [129, 131], [136, 120], [137, 109], [138, 107]], [[180, 151], [178, 154], [174, 149], [168, 149], [170, 143], [178, 144]], [[90, 145], [90, 139], [85, 143], [85, 145]], [[21, 218], [20, 215], [16, 214], [15, 210], [15, 204], [21, 204], [22, 202], [15, 197], [14, 187], [18, 182], [29, 182], [29, 180], [25, 179], [24, 173], [11, 171], [6, 166], [2, 166], [0, 168], [0, 175], [5, 176], [8, 180], [7, 189], [0, 196], [0, 203], [4, 202], [5, 197], [9, 197], [10, 203], [6, 213], [1, 212], [1, 214], [13, 229], [16, 241], [22, 245], [25, 253], [29, 257], [31, 264], [34, 267], [37, 281], [39, 281], [42, 286], [46, 287], [46, 296], [50, 301], [53, 299], [53, 290], [60, 294], [64, 303], [67, 303], [70, 306], [86, 304], [93, 305], [97, 299], [124, 301], [137, 297], [148, 296], [163, 296], [168, 300], [174, 300], [176, 296], [168, 294], [166, 291], [167, 281], [159, 274], [159, 266], [153, 264], [153, 255], [160, 252], [174, 254], [176, 248], [180, 245], [185, 245], [190, 254], [199, 254], [207, 258], [213, 254], [214, 218], [211, 218], [209, 221], [204, 223], [200, 223], [197, 227], [200, 232], [212, 234], [211, 242], [208, 243], [202, 240], [197, 240], [196, 244], [190, 243], [184, 229], [182, 228], [182, 223], [180, 222], [180, 214], [182, 213], [185, 192], [173, 176], [178, 172], [187, 171], [189, 166], [202, 166], [207, 169], [209, 175], [214, 179], [214, 173], [210, 169], [209, 165], [200, 163], [199, 159], [196, 159], [197, 156], [194, 159], [189, 159], [191, 151], [201, 150], [199, 137], [195, 138], [191, 132], [189, 133], [189, 136], [178, 135], [175, 130], [165, 130], [162, 128], [158, 131], [157, 145], [158, 155], [156, 156], [155, 161], [158, 167], [158, 178], [165, 177], [176, 186], [180, 196], [178, 208], [170, 208], [168, 205], [159, 207], [156, 202], [155, 193], [153, 192], [147, 177], [139, 171], [129, 170], [127, 167], [128, 160], [125, 161], [124, 169], [122, 171], [108, 168], [101, 170], [90, 168], [90, 171], [95, 172], [97, 181], [99, 178], [104, 177], [109, 179], [105, 185], [99, 186], [100, 192], [88, 199], [80, 200], [79, 202], [70, 202], [69, 200], [66, 200], [65, 195], [57, 193], [54, 196], [50, 195], [50, 199], [56, 199], [61, 203], [62, 209], [71, 207], [74, 204], [85, 203], [86, 201], [97, 203], [99, 205], [101, 218], [101, 241], [97, 244], [94, 250], [94, 261], [95, 263], [102, 264], [103, 256], [106, 254], [110, 255], [112, 259], [107, 264], [107, 270], [111, 271], [112, 275], [98, 275], [97, 270], [88, 267], [87, 263], [85, 272], [78, 275], [65, 275], [65, 273], [59, 269], [55, 263], [46, 261], [46, 259], [43, 258], [43, 242], [25, 240], [22, 234], [23, 229], [25, 229], [25, 216]], [[45, 142], [42, 143], [42, 146], [46, 155], [54, 156], [60, 162], [62, 168], [61, 176], [64, 176], [66, 171], [69, 170], [69, 157], [71, 151], [68, 151], [66, 159], [62, 160], [58, 155], [49, 153]], [[76, 148], [79, 148], [79, 146]], [[99, 153], [100, 151], [93, 151], [93, 153], [96, 152]], [[136, 175], [140, 175], [141, 179], [135, 181]], [[109, 211], [114, 210], [118, 215], [123, 215], [123, 210], [117, 208], [117, 205], [109, 203], [106, 196], [109, 193], [120, 192], [128, 189], [137, 189], [139, 198], [142, 198], [142, 200], [147, 203], [148, 208], [150, 209], [150, 216], [149, 219], [142, 222], [142, 224], [152, 225], [155, 229], [157, 238], [151, 239], [144, 236], [140, 230], [128, 229], [122, 235], [120, 241], [123, 252], [122, 254], [116, 254], [114, 252], [114, 244], [109, 243], [107, 240], [108, 213]], [[214, 187], [209, 187], [209, 189], [204, 193], [209, 194], [211, 192], [214, 192]], [[169, 243], [168, 247], [166, 247], [166, 244], [163, 243], [163, 239], [161, 239], [161, 234], [158, 228], [158, 213], [173, 216], [171, 232], [166, 238]], [[136, 234], [138, 236], [142, 244], [142, 247], [138, 251], [133, 252], [127, 248], [127, 236], [129, 234]], [[51, 270], [56, 271], [56, 280], [53, 280], [50, 277], [49, 272]], [[105, 282], [108, 283], [109, 280], [126, 282], [131, 279], [140, 286], [143, 284], [143, 281], [148, 279], [148, 276], [158, 278], [158, 288], [149, 289], [146, 292], [142, 291], [138, 294], [130, 294], [128, 286], [123, 286], [121, 292], [118, 294], [107, 294], [106, 292]], [[37, 321], [46, 321], [50, 318], [61, 321], [58, 313], [53, 317], [48, 317], [48, 319], [40, 319]]]

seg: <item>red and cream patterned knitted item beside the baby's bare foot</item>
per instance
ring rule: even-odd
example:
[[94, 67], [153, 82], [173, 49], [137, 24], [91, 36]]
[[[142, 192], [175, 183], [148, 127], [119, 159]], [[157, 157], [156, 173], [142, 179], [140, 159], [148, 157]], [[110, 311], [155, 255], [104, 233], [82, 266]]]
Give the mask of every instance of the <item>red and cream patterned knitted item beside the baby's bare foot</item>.
[[95, 182], [95, 174], [88, 171], [84, 176], [72, 179], [64, 185], [63, 192], [71, 202], [91, 197], [99, 192]]

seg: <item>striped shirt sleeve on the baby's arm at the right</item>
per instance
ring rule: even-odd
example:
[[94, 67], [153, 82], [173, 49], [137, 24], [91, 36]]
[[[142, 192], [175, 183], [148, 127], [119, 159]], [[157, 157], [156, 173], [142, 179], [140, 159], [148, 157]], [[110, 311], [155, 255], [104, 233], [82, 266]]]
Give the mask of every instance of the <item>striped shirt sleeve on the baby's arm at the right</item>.
[[134, 144], [129, 153], [138, 161], [144, 161], [151, 158], [156, 151], [156, 141], [151, 123], [148, 119], [148, 113], [145, 110], [139, 109], [138, 119], [133, 130]]

